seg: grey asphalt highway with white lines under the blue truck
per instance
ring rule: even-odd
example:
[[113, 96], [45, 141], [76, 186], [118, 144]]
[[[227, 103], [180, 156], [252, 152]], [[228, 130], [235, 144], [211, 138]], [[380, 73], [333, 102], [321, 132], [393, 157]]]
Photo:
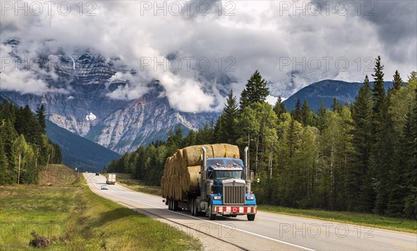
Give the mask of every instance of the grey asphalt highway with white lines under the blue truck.
[[189, 211], [169, 211], [162, 198], [117, 183], [101, 190], [106, 178], [83, 175], [99, 196], [199, 238], [206, 250], [417, 250], [417, 234], [263, 211], [252, 222], [246, 216], [208, 220], [191, 216]]

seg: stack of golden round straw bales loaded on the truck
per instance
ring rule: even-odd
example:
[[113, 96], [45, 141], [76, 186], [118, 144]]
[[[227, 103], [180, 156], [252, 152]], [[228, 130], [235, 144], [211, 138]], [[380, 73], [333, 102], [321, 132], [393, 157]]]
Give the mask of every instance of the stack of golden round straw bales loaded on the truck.
[[[207, 158], [240, 157], [238, 146], [213, 144], [204, 145], [204, 148]], [[161, 180], [163, 198], [184, 200], [187, 193], [197, 191], [202, 159], [202, 146], [189, 146], [168, 157]]]

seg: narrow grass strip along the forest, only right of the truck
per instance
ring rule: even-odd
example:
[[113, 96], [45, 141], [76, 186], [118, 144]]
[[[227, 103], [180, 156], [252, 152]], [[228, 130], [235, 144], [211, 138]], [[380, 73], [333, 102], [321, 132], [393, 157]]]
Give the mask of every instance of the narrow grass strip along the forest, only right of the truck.
[[331, 220], [340, 223], [350, 223], [369, 227], [378, 227], [386, 230], [397, 230], [403, 232], [417, 233], [417, 221], [407, 218], [393, 218], [373, 214], [359, 214], [347, 211], [325, 211], [315, 209], [293, 209], [288, 207], [277, 207], [270, 205], [259, 205], [261, 211], [269, 211], [277, 214], [316, 218], [320, 220]]

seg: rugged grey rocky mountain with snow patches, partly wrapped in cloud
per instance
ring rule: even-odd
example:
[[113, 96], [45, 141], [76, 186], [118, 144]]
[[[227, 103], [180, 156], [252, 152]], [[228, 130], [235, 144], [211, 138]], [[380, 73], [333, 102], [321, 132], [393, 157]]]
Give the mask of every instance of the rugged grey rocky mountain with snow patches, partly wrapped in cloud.
[[[8, 43], [17, 50], [18, 41]], [[44, 60], [43, 64], [40, 63], [44, 65], [44, 71], [51, 71], [48, 67], [53, 64], [53, 71], [58, 76], [43, 80], [49, 87], [65, 91], [22, 94], [1, 90], [3, 95], [17, 105], [28, 104], [33, 111], [44, 103], [49, 121], [117, 153], [165, 139], [168, 132], [179, 125], [187, 131], [217, 119], [218, 113], [215, 112], [186, 113], [173, 109], [164, 95], [165, 89], [157, 80], [149, 83], [149, 92], [136, 100], [109, 98], [108, 94], [129, 82], [111, 80], [115, 73], [136, 74], [118, 58], [104, 58], [90, 51], [70, 55], [63, 50], [53, 55], [54, 60], [48, 54], [39, 58]], [[21, 59], [15, 56], [15, 60], [19, 62]], [[38, 76], [42, 78], [40, 74]]]

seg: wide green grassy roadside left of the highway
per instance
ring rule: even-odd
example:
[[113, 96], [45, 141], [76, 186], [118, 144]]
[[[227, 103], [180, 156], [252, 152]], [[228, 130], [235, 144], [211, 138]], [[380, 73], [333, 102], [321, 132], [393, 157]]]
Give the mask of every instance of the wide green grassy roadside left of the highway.
[[75, 173], [49, 172], [47, 185], [0, 187], [0, 250], [39, 250], [29, 245], [33, 230], [52, 241], [42, 250], [202, 248], [170, 225], [97, 196]]

